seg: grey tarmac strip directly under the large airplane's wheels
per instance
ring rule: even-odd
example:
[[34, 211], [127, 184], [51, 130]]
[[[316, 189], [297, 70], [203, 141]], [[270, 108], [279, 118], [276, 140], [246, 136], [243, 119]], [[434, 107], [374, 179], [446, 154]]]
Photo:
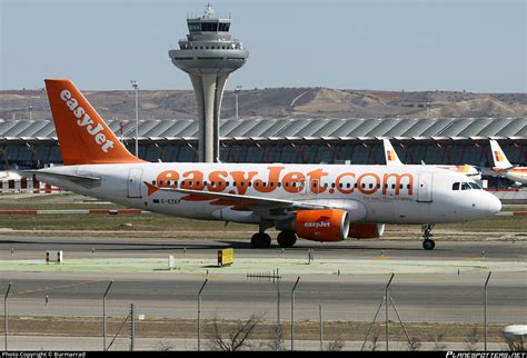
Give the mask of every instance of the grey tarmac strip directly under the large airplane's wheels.
[[[250, 237], [250, 233], [248, 233]], [[17, 258], [42, 258], [46, 250], [63, 250], [70, 258], [91, 257], [167, 257], [172, 253], [216, 255], [218, 249], [235, 248], [241, 257], [280, 257], [282, 250], [276, 242], [269, 249], [253, 249], [247, 240], [210, 239], [157, 239], [157, 238], [64, 238], [37, 236], [0, 236], [0, 260], [11, 258], [11, 249]], [[394, 259], [467, 259], [486, 257], [500, 261], [527, 259], [527, 241], [486, 240], [441, 241], [426, 251], [419, 239], [415, 240], [346, 240], [341, 242], [314, 242], [299, 239], [294, 248], [285, 249], [291, 257], [306, 257], [312, 249], [315, 255], [328, 259], [368, 259], [381, 253]]]

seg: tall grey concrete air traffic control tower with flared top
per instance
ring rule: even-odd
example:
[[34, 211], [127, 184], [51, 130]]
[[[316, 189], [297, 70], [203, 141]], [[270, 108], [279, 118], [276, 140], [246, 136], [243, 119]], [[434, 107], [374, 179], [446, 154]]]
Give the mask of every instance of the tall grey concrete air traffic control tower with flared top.
[[246, 63], [249, 51], [231, 39], [230, 17], [215, 17], [210, 4], [201, 17], [188, 17], [187, 24], [187, 39], [168, 54], [192, 81], [199, 115], [199, 161], [213, 162], [219, 160], [219, 116], [227, 77]]

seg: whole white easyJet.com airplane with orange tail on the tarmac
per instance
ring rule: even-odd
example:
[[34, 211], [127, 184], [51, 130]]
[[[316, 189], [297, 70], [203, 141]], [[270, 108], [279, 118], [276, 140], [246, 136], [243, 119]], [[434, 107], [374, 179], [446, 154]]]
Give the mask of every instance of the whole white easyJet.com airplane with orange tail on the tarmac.
[[297, 237], [376, 238], [385, 223], [431, 226], [487, 218], [501, 209], [463, 175], [430, 166], [147, 162], [132, 156], [68, 79], [46, 80], [63, 167], [37, 179], [102, 200], [191, 219], [253, 223], [253, 247]]

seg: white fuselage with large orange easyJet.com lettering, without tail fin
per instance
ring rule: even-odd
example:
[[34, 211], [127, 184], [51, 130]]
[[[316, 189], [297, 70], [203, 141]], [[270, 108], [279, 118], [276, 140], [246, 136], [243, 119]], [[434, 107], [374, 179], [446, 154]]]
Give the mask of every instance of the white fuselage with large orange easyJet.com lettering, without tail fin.
[[[66, 180], [61, 175], [99, 178]], [[352, 222], [460, 222], [499, 211], [484, 190], [453, 190], [463, 175], [427, 166], [122, 163], [46, 169], [37, 179], [74, 192], [177, 217], [259, 223], [272, 212], [233, 210], [228, 200], [157, 190], [181, 188], [239, 196], [290, 199], [346, 210]]]

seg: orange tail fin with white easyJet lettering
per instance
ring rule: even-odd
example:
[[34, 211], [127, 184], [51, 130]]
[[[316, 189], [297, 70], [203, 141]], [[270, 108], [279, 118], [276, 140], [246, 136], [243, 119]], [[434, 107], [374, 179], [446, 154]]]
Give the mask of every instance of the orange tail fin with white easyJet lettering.
[[51, 113], [66, 166], [145, 162], [132, 156], [68, 79], [47, 79]]

